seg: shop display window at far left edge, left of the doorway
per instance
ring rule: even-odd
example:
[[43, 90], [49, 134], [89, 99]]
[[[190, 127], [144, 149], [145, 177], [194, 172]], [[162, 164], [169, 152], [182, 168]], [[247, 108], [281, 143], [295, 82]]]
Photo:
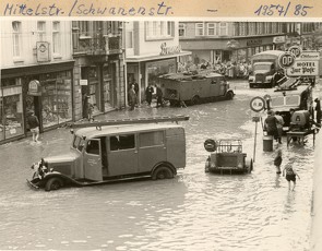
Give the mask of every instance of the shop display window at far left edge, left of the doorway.
[[0, 141], [24, 134], [21, 79], [2, 81], [0, 89]]

